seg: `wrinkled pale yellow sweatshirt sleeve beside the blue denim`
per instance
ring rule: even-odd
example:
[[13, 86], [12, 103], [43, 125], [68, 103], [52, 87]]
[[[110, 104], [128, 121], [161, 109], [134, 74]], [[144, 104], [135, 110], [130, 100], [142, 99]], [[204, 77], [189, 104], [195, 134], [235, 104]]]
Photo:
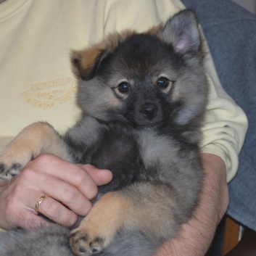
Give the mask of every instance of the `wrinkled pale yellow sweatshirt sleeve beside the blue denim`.
[[223, 159], [229, 182], [238, 170], [238, 156], [244, 144], [248, 121], [244, 111], [221, 86], [207, 44], [205, 49], [205, 70], [210, 84], [210, 94], [200, 146], [202, 152], [216, 154]]

